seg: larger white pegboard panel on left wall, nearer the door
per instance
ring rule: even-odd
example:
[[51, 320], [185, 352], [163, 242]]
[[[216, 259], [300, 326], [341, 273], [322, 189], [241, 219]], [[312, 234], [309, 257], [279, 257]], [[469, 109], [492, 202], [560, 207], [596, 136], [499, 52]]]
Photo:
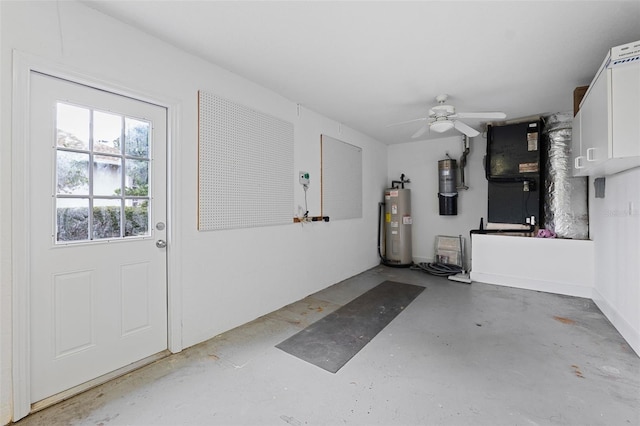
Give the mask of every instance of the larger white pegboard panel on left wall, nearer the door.
[[291, 223], [293, 124], [198, 92], [198, 229]]

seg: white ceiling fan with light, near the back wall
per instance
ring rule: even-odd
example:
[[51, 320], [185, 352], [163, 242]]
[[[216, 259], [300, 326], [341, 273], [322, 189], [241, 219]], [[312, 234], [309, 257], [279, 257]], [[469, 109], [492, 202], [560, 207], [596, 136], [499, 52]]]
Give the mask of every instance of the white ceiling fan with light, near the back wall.
[[[458, 112], [456, 113], [456, 108], [453, 105], [447, 105], [448, 95], [438, 95], [436, 96], [437, 105], [431, 107], [429, 110], [429, 115], [423, 118], [416, 118], [414, 120], [403, 121], [400, 123], [390, 124], [389, 126], [397, 126], [400, 124], [413, 123], [416, 121], [425, 121], [424, 125], [418, 129], [417, 132], [411, 136], [412, 138], [417, 138], [422, 136], [427, 130], [433, 130], [437, 133], [443, 133], [447, 130], [451, 130], [455, 128], [461, 133], [473, 138], [478, 136], [480, 132], [474, 129], [471, 126], [463, 123], [458, 120], [459, 118], [473, 118], [473, 119], [491, 119], [491, 120], [501, 120], [506, 118], [506, 114], [504, 112]], [[387, 127], [389, 127], [387, 126]]]

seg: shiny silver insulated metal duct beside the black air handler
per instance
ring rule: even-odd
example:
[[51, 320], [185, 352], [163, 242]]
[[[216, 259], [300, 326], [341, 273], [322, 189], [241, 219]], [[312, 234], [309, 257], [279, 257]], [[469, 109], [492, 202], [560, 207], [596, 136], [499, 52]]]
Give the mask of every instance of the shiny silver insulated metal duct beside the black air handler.
[[588, 178], [572, 177], [571, 131], [573, 114], [542, 117], [547, 145], [544, 194], [545, 227], [560, 238], [589, 238]]

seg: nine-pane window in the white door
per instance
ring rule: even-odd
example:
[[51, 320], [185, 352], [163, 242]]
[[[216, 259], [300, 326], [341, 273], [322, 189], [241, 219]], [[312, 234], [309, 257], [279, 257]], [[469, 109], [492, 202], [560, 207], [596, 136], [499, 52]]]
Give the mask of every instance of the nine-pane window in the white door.
[[56, 243], [150, 233], [148, 121], [56, 104]]

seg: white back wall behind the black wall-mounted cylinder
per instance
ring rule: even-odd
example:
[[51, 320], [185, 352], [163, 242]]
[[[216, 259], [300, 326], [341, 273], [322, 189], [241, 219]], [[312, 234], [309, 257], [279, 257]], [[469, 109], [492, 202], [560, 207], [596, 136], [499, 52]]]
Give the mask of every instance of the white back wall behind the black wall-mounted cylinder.
[[[411, 183], [411, 216], [413, 217], [413, 258], [415, 262], [431, 262], [437, 235], [462, 235], [467, 244], [465, 261], [469, 261], [469, 231], [478, 229], [480, 218], [487, 222], [487, 180], [483, 158], [487, 140], [477, 136], [470, 140], [465, 181], [468, 190], [458, 191], [458, 214], [440, 216], [438, 204], [438, 161], [446, 154], [459, 162], [462, 136], [423, 140], [389, 146], [388, 182], [399, 180], [404, 173]], [[382, 194], [380, 194], [382, 198]]]

